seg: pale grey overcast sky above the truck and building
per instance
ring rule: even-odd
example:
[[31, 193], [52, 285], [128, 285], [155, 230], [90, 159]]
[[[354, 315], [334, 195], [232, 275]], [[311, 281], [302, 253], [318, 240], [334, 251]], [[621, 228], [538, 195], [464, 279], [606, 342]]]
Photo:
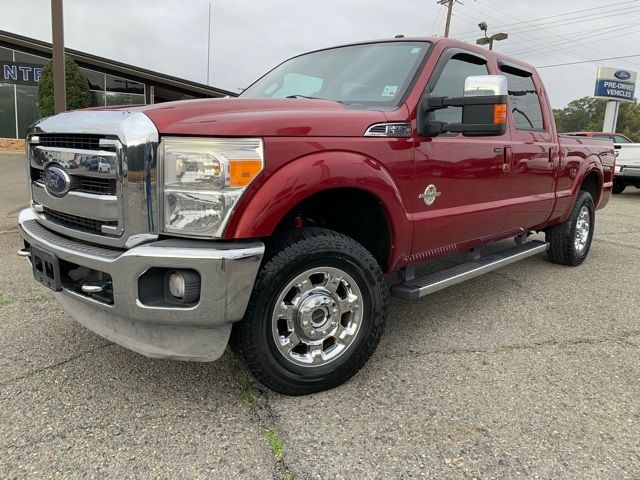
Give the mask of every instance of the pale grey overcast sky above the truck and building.
[[[210, 84], [238, 91], [308, 50], [395, 34], [442, 35], [436, 0], [211, 0]], [[536, 66], [640, 54], [640, 0], [462, 0], [452, 35], [509, 33], [495, 49]], [[65, 0], [69, 48], [206, 83], [209, 0]], [[565, 15], [566, 14], [566, 15]], [[50, 0], [0, 0], [0, 29], [51, 41]], [[540, 70], [554, 107], [593, 94], [597, 65], [640, 70], [640, 57]]]

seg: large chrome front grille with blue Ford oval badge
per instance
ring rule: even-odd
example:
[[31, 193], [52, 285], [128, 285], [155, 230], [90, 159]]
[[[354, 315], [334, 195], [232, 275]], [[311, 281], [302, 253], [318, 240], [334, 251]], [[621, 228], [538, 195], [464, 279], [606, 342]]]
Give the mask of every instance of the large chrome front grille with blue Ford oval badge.
[[27, 134], [33, 210], [67, 238], [130, 247], [157, 238], [158, 131], [135, 109], [67, 112]]

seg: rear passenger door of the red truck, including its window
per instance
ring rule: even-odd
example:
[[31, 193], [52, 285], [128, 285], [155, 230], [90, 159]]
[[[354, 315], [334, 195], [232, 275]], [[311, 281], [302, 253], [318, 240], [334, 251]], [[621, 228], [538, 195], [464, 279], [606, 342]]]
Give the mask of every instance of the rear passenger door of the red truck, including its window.
[[509, 182], [511, 207], [506, 228], [533, 229], [543, 224], [553, 208], [559, 155], [551, 119], [542, 108], [540, 80], [523, 67], [499, 62], [509, 89]]

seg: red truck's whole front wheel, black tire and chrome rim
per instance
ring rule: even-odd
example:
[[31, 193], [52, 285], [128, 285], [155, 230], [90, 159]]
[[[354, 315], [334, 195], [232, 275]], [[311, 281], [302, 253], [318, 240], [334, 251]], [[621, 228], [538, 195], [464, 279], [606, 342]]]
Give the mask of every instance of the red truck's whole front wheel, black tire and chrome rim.
[[330, 230], [276, 239], [232, 346], [268, 388], [304, 395], [353, 376], [374, 352], [388, 294], [371, 253]]

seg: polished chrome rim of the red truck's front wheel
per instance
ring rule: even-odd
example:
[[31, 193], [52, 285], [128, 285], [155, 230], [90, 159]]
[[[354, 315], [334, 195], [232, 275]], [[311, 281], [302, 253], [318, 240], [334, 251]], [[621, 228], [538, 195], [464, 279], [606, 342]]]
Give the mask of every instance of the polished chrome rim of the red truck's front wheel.
[[349, 274], [333, 267], [312, 268], [280, 291], [271, 331], [284, 358], [299, 366], [318, 367], [349, 349], [362, 317], [362, 293]]

